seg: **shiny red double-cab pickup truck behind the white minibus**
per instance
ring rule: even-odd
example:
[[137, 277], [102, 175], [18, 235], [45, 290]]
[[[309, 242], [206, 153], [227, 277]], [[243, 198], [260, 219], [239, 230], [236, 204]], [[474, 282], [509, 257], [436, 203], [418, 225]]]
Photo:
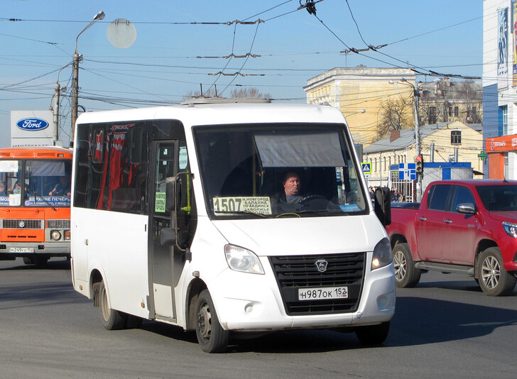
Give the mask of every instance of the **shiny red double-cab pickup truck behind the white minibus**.
[[517, 282], [517, 181], [442, 180], [422, 202], [392, 204], [386, 231], [398, 287], [427, 270], [473, 276], [486, 295], [509, 295]]

